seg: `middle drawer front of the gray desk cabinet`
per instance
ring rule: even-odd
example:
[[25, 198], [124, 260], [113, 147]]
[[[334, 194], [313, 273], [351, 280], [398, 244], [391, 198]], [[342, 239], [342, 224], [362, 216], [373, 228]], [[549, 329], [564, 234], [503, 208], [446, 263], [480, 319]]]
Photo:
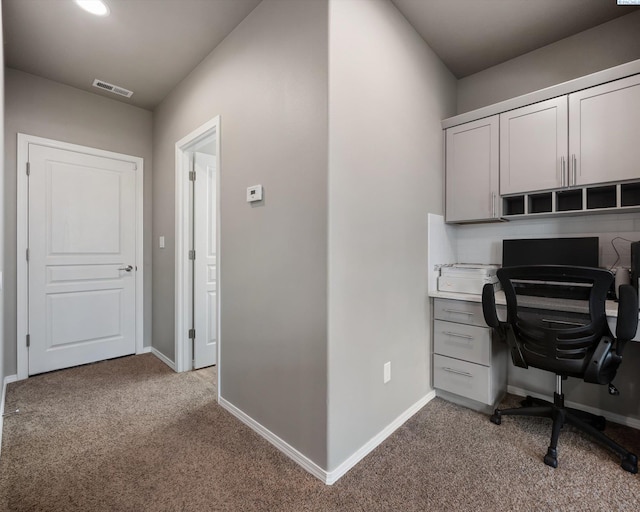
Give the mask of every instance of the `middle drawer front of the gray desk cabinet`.
[[433, 339], [436, 354], [491, 365], [491, 329], [488, 327], [434, 320]]

